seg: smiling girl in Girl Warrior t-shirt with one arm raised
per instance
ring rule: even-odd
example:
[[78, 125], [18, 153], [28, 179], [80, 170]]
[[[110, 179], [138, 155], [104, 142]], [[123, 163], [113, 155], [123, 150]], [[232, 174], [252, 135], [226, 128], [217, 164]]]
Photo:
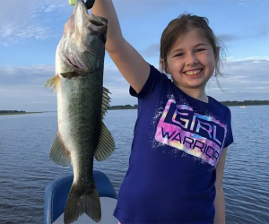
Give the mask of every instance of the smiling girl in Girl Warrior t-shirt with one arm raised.
[[205, 18], [183, 14], [161, 36], [159, 72], [123, 38], [111, 0], [106, 49], [138, 99], [126, 177], [114, 216], [122, 224], [224, 224], [222, 176], [233, 142], [230, 109], [205, 94], [220, 74], [220, 46]]

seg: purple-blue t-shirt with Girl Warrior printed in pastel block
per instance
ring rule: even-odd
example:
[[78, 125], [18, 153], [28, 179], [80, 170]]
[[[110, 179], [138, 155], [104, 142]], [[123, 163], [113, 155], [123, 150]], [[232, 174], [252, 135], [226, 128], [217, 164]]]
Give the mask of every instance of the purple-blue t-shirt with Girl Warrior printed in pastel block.
[[230, 109], [194, 99], [151, 65], [138, 94], [129, 168], [114, 216], [122, 224], [213, 224], [216, 165], [233, 142]]

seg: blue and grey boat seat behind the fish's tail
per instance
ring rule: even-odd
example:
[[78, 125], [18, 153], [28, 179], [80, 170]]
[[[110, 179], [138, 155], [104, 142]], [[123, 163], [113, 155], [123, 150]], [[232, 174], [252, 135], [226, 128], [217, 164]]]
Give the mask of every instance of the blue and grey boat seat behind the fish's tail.
[[[51, 182], [45, 191], [44, 201], [44, 224], [63, 224], [65, 203], [73, 183], [73, 175], [62, 177]], [[93, 170], [93, 179], [95, 181], [101, 206], [100, 224], [117, 224], [117, 219], [113, 212], [117, 205], [117, 193], [111, 184], [109, 178], [98, 170]], [[96, 223], [86, 214], [82, 214], [74, 224]]]

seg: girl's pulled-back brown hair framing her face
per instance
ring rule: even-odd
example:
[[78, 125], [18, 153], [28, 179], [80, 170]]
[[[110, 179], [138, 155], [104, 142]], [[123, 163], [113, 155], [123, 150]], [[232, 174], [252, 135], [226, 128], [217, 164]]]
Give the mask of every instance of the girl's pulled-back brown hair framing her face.
[[181, 35], [186, 34], [189, 30], [197, 29], [213, 47], [213, 53], [216, 58], [215, 76], [217, 77], [219, 74], [222, 75], [222, 54], [220, 53], [225, 53], [223, 49], [224, 46], [221, 44], [221, 41], [216, 38], [208, 23], [207, 18], [192, 15], [190, 13], [181, 14], [178, 16], [178, 18], [169, 22], [168, 26], [165, 28], [165, 30], [163, 30], [161, 35], [160, 58], [163, 60], [165, 65], [164, 68], [161, 66], [161, 72], [167, 73], [167, 55], [177, 39]]

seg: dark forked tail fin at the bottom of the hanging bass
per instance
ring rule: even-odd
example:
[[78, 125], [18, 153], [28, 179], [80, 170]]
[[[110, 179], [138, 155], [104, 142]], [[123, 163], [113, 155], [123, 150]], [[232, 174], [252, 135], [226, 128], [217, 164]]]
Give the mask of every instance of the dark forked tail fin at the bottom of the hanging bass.
[[83, 213], [86, 213], [95, 222], [100, 221], [99, 194], [96, 188], [82, 191], [81, 188], [73, 184], [65, 205], [65, 224], [73, 223]]

